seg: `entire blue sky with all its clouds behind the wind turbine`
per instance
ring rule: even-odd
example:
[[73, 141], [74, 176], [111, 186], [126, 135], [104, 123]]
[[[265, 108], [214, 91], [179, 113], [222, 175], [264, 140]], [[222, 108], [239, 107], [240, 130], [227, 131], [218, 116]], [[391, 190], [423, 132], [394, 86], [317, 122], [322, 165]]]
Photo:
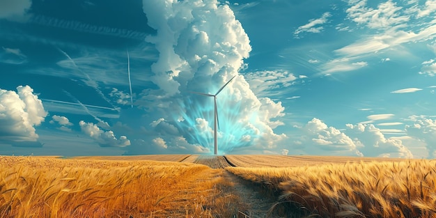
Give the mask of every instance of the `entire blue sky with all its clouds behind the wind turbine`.
[[433, 158], [436, 1], [0, 0], [0, 154]]

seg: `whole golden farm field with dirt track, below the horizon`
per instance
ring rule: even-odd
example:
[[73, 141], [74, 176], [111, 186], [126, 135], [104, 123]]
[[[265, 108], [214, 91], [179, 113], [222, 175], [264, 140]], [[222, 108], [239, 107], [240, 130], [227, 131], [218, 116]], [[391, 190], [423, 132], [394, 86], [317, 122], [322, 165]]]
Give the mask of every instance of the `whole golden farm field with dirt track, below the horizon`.
[[433, 160], [0, 156], [0, 178], [0, 217], [436, 217]]

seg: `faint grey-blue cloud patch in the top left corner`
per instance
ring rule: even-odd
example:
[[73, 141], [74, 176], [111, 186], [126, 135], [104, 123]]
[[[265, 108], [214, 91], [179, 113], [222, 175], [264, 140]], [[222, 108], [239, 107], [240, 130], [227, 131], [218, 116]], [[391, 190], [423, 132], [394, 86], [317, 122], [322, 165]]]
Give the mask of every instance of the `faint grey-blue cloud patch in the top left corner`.
[[22, 20], [31, 5], [31, 0], [0, 1], [0, 19]]

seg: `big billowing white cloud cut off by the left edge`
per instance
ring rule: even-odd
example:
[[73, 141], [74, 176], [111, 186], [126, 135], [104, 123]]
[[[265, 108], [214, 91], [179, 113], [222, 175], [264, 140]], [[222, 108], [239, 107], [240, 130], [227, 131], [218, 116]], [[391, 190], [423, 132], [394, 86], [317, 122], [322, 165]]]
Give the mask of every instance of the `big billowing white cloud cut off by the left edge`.
[[42, 146], [35, 126], [47, 116], [38, 95], [30, 86], [18, 86], [17, 92], [0, 88], [0, 139], [13, 146]]

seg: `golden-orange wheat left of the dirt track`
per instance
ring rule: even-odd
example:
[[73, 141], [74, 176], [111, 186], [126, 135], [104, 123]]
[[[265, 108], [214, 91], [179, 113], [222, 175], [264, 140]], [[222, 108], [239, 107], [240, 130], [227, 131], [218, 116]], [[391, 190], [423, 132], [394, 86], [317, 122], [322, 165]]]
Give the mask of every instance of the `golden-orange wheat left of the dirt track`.
[[0, 217], [230, 217], [238, 196], [201, 164], [0, 156]]

